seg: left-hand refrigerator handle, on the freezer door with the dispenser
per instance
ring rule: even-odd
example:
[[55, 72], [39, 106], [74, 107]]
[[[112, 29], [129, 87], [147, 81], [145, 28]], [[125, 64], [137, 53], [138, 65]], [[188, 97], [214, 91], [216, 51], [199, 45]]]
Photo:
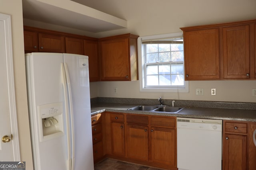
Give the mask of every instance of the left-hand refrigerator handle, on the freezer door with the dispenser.
[[[67, 133], [67, 142], [68, 142], [68, 159], [67, 159], [67, 167], [68, 170], [73, 170], [74, 166], [73, 161], [72, 161], [72, 157], [73, 157], [73, 152], [72, 151], [72, 141], [70, 141], [70, 139], [72, 140], [72, 130], [70, 131], [71, 127], [70, 127], [70, 115], [69, 115], [69, 103], [68, 103], [68, 86], [67, 86], [67, 81], [66, 81], [66, 74], [65, 74], [65, 69], [64, 69], [64, 64], [61, 63], [61, 81], [62, 81], [62, 86], [63, 86], [63, 90], [64, 90], [64, 106], [65, 106], [65, 113], [66, 113], [66, 133]], [[71, 134], [70, 134], [71, 132]]]

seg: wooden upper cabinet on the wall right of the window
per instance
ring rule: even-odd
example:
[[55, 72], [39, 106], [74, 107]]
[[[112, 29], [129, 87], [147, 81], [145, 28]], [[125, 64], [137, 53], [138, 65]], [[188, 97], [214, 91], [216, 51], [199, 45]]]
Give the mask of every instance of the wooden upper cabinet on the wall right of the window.
[[256, 20], [180, 28], [185, 80], [256, 78]]

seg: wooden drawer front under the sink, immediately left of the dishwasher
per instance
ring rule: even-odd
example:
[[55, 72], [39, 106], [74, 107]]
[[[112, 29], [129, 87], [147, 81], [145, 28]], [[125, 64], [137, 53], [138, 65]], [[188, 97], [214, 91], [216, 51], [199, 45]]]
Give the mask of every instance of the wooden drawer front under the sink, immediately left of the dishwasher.
[[174, 118], [151, 117], [151, 126], [175, 127], [175, 122]]

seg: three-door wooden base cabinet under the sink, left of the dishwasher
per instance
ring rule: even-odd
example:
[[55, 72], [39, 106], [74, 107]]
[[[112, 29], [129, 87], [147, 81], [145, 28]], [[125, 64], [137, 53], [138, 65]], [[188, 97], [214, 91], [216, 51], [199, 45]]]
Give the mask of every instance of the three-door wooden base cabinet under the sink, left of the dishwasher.
[[106, 156], [177, 170], [176, 118], [105, 112]]

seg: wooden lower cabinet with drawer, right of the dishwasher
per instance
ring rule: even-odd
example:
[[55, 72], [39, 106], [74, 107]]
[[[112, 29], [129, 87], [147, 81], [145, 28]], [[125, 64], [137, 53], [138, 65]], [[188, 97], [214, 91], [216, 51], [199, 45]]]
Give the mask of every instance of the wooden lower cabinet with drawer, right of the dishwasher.
[[222, 170], [255, 170], [256, 122], [224, 120], [223, 125]]

